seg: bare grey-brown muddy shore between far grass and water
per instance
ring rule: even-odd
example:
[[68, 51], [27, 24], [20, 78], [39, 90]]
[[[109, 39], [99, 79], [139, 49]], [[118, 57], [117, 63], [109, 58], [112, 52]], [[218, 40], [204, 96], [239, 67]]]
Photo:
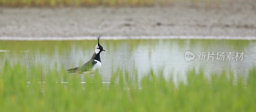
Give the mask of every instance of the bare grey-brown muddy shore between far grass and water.
[[256, 4], [231, 8], [0, 8], [0, 37], [256, 36]]

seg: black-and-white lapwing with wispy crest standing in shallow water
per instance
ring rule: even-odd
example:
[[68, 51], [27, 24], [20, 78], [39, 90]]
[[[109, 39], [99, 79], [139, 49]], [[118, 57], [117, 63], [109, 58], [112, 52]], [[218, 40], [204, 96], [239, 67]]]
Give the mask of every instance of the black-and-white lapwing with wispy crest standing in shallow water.
[[[100, 35], [100, 36], [102, 36], [102, 35]], [[100, 45], [100, 42], [99, 42], [100, 36], [96, 36], [98, 39], [98, 44], [96, 44], [96, 46], [95, 46], [95, 51], [92, 55], [92, 58], [80, 67], [68, 69], [67, 70], [68, 73], [83, 74], [84, 72], [87, 72], [87, 71], [95, 72], [96, 70], [98, 70], [101, 67], [100, 52], [105, 51], [105, 50]]]

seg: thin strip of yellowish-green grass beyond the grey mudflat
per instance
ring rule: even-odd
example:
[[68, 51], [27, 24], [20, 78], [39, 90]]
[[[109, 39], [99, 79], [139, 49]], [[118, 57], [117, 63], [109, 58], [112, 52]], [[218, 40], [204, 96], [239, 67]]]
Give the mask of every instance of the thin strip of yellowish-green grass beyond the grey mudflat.
[[226, 0], [0, 0], [0, 6], [6, 7], [80, 7], [80, 6], [155, 6], [189, 4], [192, 6], [219, 6]]

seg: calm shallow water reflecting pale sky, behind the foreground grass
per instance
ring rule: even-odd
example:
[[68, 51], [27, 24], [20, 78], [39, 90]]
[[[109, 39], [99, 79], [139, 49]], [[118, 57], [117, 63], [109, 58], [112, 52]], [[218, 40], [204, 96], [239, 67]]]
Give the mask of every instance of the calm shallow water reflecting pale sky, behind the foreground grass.
[[[5, 60], [15, 64], [38, 65], [42, 69], [65, 69], [81, 66], [91, 59], [96, 40], [76, 41], [0, 41], [0, 67]], [[203, 69], [205, 77], [231, 69], [237, 76], [246, 74], [256, 63], [255, 40], [200, 40], [200, 39], [156, 39], [156, 40], [100, 40], [106, 50], [101, 52], [99, 70], [103, 82], [109, 82], [111, 72], [117, 68], [137, 70], [139, 77], [163, 69], [166, 78], [172, 75], [174, 82], [186, 82], [185, 73], [192, 68]], [[185, 52], [195, 54], [194, 60], [186, 61]], [[198, 61], [198, 52], [206, 52], [205, 60]], [[244, 52], [243, 60], [207, 60], [208, 52]], [[236, 54], [234, 54], [235, 58]], [[83, 82], [83, 81], [81, 81]]]

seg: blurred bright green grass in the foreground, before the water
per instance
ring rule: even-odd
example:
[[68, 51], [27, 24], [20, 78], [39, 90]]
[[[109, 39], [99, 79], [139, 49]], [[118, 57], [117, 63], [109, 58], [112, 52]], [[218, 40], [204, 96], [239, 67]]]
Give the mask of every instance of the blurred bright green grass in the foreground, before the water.
[[[141, 81], [136, 72], [113, 72], [110, 83], [99, 74], [67, 74], [64, 69], [29, 69], [7, 61], [0, 71], [0, 111], [255, 111], [256, 71], [248, 79], [232, 72], [187, 73], [188, 83], [175, 86], [172, 79], [150, 71]], [[30, 82], [29, 84], [27, 82]], [[61, 82], [68, 83], [61, 83]], [[42, 83], [45, 82], [45, 83]]]

